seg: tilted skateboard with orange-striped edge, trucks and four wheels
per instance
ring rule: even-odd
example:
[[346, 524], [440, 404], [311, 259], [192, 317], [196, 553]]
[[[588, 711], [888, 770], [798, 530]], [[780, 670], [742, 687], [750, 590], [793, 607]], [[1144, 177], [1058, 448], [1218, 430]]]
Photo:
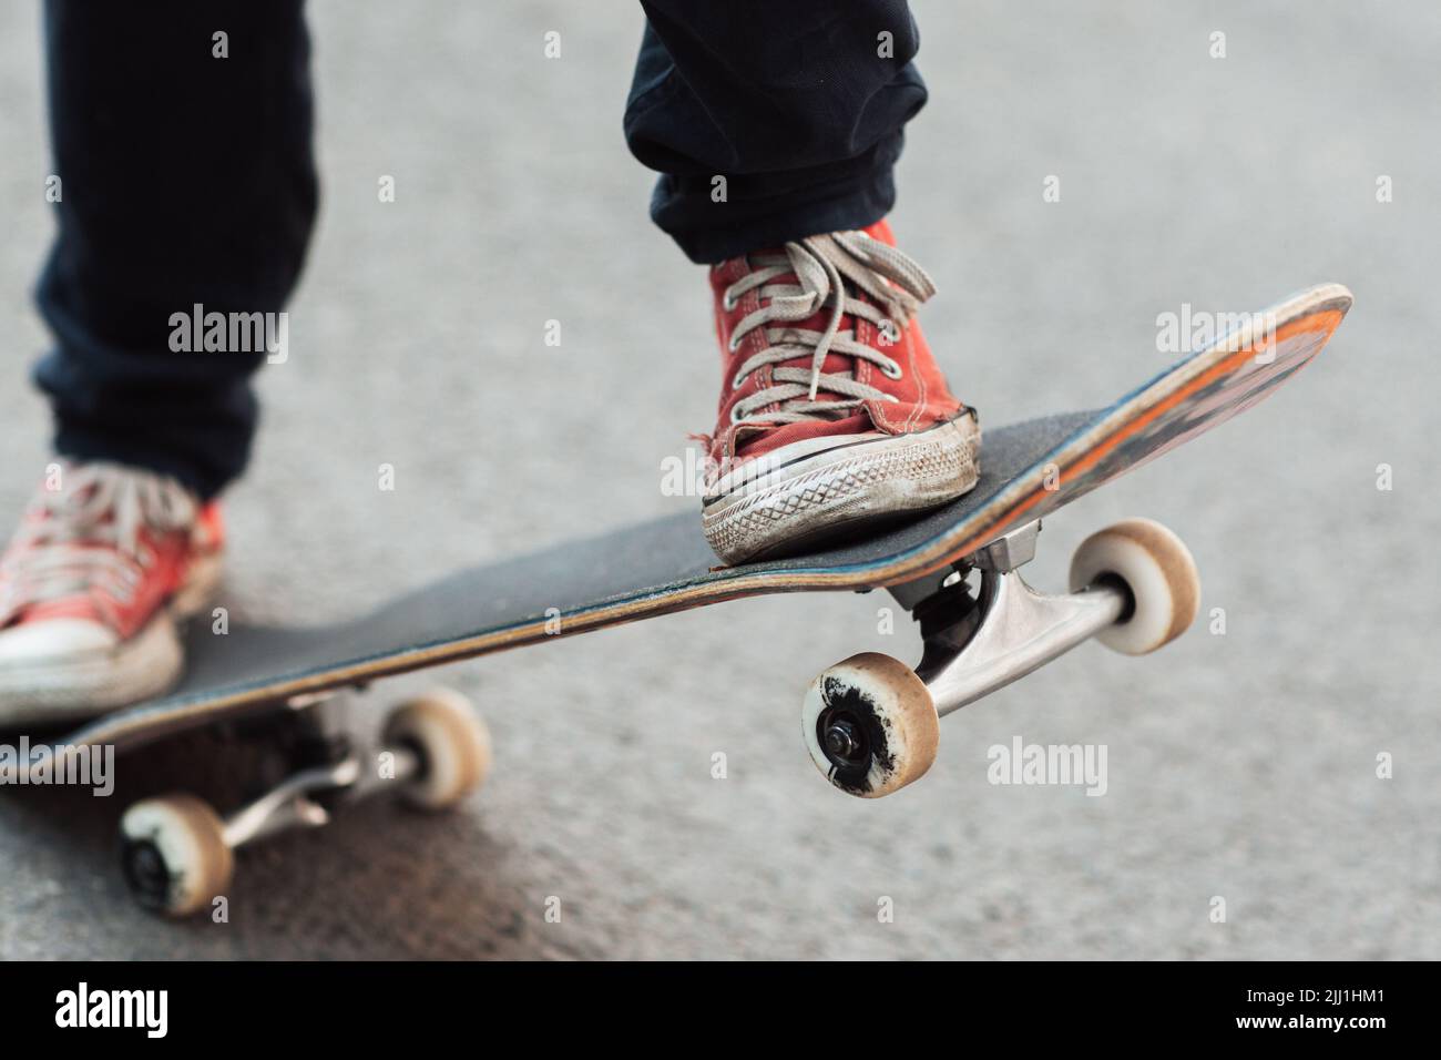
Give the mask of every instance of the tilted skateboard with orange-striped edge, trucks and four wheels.
[[127, 881], [144, 904], [184, 914], [225, 891], [233, 851], [255, 839], [321, 825], [337, 803], [379, 790], [440, 809], [483, 782], [490, 741], [454, 692], [403, 702], [378, 743], [347, 734], [347, 697], [379, 678], [738, 597], [886, 588], [919, 623], [919, 663], [863, 653], [831, 666], [806, 692], [801, 728], [831, 785], [889, 795], [932, 763], [942, 715], [1091, 637], [1143, 655], [1186, 630], [1200, 588], [1174, 534], [1146, 519], [1101, 529], [1072, 557], [1069, 591], [1045, 594], [1019, 573], [1042, 519], [1267, 397], [1321, 350], [1350, 303], [1339, 284], [1313, 287], [1239, 317], [1105, 408], [989, 428], [970, 493], [862, 541], [725, 567], [686, 512], [463, 571], [340, 624], [223, 635], [197, 624], [176, 689], [42, 757], [55, 769], [89, 748], [124, 754], [231, 723], [290, 748], [285, 779], [226, 816], [190, 795], [125, 812]]

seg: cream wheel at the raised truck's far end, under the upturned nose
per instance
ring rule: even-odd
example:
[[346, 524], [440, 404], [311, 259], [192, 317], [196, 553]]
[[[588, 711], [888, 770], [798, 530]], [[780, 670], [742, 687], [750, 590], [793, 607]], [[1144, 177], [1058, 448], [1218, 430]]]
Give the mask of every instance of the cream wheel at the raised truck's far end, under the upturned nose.
[[1151, 519], [1125, 519], [1097, 531], [1071, 557], [1071, 590], [1115, 578], [1130, 607], [1097, 639], [1124, 655], [1146, 655], [1185, 633], [1200, 607], [1200, 574], [1190, 549]]

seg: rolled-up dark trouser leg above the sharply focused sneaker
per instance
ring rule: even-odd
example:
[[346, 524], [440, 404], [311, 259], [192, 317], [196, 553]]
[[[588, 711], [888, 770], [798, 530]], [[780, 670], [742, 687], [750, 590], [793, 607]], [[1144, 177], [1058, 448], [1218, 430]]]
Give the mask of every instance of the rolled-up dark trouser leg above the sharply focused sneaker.
[[927, 98], [904, 0], [641, 3], [648, 25], [625, 138], [663, 173], [651, 216], [693, 261], [866, 228], [889, 212], [901, 130]]

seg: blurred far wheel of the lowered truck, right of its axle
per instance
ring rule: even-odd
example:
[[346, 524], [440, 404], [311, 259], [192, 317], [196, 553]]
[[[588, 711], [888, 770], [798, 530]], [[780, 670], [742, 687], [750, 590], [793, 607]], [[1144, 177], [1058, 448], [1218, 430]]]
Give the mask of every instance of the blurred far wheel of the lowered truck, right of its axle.
[[419, 757], [419, 772], [403, 787], [405, 800], [419, 809], [454, 806], [490, 772], [490, 731], [470, 699], [450, 689], [396, 707], [385, 723], [385, 743]]

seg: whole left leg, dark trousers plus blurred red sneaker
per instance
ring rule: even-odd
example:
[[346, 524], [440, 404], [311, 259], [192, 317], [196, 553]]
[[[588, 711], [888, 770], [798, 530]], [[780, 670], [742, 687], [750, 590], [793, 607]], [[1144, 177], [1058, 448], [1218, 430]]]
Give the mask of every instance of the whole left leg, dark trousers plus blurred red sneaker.
[[254, 333], [171, 346], [171, 320], [265, 320], [300, 273], [316, 212], [301, 10], [46, 4], [61, 193], [36, 381], [69, 464], [0, 555], [0, 724], [91, 717], [182, 672], [180, 622], [223, 551], [205, 502], [245, 467], [265, 353]]

